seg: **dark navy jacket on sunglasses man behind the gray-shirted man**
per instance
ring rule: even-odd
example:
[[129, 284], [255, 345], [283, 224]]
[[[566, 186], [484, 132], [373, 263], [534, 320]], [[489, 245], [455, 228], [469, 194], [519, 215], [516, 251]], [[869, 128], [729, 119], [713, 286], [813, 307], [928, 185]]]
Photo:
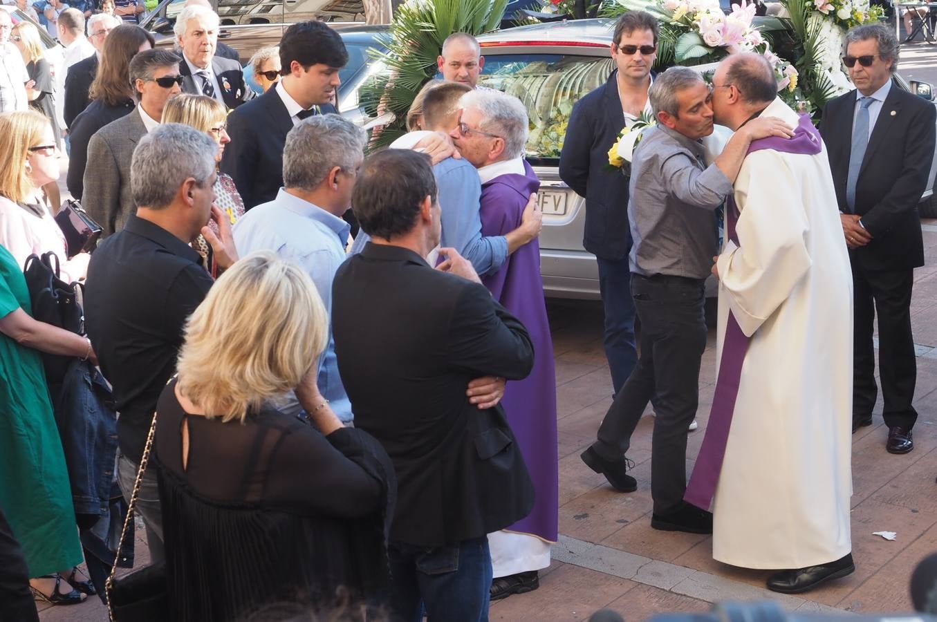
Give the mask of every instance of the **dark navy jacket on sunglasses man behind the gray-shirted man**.
[[608, 150], [625, 126], [618, 72], [573, 106], [559, 155], [559, 176], [586, 198], [583, 246], [602, 259], [624, 259], [632, 248], [628, 226], [628, 180], [608, 170]]

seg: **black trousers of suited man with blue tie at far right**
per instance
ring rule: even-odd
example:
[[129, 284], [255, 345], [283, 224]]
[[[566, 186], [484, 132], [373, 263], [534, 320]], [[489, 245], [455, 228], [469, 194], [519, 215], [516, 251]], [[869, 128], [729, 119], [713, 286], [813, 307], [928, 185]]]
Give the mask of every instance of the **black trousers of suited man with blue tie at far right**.
[[853, 419], [868, 417], [875, 407], [875, 351], [872, 321], [878, 315], [879, 378], [885, 407], [882, 416], [889, 428], [911, 429], [917, 411], [915, 398], [917, 362], [911, 334], [911, 289], [914, 271], [865, 270], [853, 264]]

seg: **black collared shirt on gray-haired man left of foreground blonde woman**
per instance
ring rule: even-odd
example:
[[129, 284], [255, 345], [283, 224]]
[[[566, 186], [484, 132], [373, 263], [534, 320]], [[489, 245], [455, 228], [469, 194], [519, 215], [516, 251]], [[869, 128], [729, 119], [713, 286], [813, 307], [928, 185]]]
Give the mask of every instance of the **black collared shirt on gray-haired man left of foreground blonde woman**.
[[175, 371], [186, 318], [213, 283], [191, 246], [137, 215], [91, 256], [85, 324], [113, 385], [120, 451], [131, 462], [140, 462], [156, 400]]

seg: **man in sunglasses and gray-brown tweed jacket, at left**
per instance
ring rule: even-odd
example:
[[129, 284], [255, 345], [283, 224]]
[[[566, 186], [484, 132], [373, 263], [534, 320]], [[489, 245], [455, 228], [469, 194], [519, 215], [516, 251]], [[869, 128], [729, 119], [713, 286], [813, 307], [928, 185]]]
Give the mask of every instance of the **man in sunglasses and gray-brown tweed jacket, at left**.
[[137, 107], [101, 127], [88, 141], [82, 203], [106, 237], [124, 229], [137, 209], [130, 192], [130, 159], [141, 137], [159, 125], [163, 107], [179, 95], [183, 77], [179, 56], [168, 50], [144, 50], [130, 61], [130, 82]]

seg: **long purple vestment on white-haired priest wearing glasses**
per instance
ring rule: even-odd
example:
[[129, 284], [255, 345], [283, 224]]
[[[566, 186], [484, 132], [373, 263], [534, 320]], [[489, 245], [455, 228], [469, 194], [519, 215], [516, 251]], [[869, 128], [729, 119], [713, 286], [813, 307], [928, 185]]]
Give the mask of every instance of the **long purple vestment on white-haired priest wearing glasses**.
[[[498, 175], [482, 185], [482, 235], [504, 235], [520, 226], [530, 193], [540, 187], [527, 162], [524, 170], [525, 175]], [[559, 503], [557, 377], [543, 300], [540, 244], [534, 240], [521, 246], [497, 273], [483, 276], [482, 282], [500, 304], [524, 322], [534, 347], [530, 375], [508, 382], [501, 399], [537, 493], [533, 511], [507, 529], [555, 542]]]

